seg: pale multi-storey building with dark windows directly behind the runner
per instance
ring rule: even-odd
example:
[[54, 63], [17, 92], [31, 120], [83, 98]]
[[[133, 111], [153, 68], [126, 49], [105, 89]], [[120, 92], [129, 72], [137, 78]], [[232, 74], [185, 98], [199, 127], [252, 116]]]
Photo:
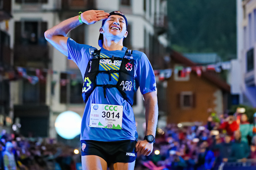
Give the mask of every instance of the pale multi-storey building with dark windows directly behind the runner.
[[[41, 136], [55, 138], [58, 135], [54, 122], [64, 111], [74, 111], [82, 117], [82, 75], [73, 61], [45, 41], [44, 32], [90, 9], [122, 11], [128, 20], [129, 32], [124, 46], [145, 52], [154, 69], [162, 68], [168, 45], [166, 0], [12, 0], [10, 43], [14, 50], [14, 67], [25, 69], [30, 77], [38, 77], [34, 84], [23, 76], [11, 85], [14, 118], [25, 125], [21, 132], [27, 133], [26, 136], [34, 130]], [[101, 22], [83, 24], [70, 31], [68, 37], [100, 49], [100, 27]], [[134, 114], [142, 134], [144, 101], [140, 92], [134, 99]]]

